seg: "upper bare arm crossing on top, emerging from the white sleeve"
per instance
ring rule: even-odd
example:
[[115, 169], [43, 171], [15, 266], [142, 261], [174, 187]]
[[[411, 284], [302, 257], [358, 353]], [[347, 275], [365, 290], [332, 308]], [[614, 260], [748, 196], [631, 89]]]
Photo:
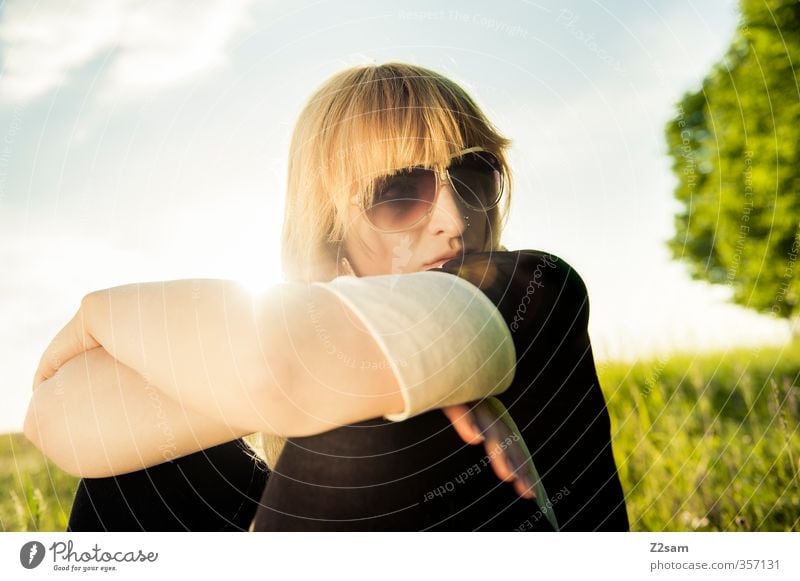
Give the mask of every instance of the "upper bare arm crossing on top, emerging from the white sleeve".
[[[40, 378], [93, 343], [182, 406], [247, 433], [316, 434], [403, 407], [376, 341], [319, 287], [253, 295], [225, 280], [133, 284], [90, 293], [73, 321], [90, 340], [65, 327]], [[373, 365], [350, 365], [331, 341]]]

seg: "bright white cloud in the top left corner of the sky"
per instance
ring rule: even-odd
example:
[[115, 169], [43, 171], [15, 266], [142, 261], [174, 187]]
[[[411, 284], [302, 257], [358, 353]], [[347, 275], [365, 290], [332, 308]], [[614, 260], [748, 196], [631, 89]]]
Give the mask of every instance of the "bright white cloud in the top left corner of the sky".
[[[120, 96], [156, 91], [226, 60], [252, 0], [7, 2], [0, 23], [6, 101], [35, 99], [109, 56], [101, 89]], [[113, 51], [113, 52], [112, 52]]]

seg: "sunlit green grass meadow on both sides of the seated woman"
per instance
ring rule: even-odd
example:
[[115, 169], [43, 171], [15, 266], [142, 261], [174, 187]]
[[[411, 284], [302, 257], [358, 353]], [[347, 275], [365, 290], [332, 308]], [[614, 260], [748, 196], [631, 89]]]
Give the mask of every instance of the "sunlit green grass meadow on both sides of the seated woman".
[[[598, 374], [633, 530], [800, 530], [800, 342]], [[0, 528], [64, 530], [77, 480], [19, 434], [0, 463]]]

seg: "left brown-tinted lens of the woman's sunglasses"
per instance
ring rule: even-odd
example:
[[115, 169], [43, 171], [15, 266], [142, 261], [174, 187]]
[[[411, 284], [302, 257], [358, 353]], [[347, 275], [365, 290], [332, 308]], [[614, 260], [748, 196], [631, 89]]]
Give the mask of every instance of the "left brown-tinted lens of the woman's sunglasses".
[[386, 176], [375, 184], [367, 217], [380, 230], [403, 230], [425, 216], [435, 196], [436, 175], [429, 169]]

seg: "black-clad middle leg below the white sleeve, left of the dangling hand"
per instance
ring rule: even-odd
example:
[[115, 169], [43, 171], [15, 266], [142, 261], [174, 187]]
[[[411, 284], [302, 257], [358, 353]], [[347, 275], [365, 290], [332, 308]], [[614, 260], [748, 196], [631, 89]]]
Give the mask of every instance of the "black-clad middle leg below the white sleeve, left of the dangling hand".
[[[548, 490], [555, 497], [557, 491]], [[554, 506], [557, 507], [555, 502]], [[256, 511], [260, 531], [551, 531], [440, 410], [287, 443]]]

